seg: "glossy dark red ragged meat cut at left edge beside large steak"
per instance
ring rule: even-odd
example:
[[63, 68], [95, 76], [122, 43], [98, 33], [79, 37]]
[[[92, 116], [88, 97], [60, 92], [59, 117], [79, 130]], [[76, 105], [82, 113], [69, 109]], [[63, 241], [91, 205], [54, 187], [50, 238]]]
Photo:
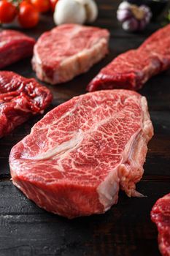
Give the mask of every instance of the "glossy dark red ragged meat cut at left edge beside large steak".
[[0, 72], [0, 138], [36, 113], [43, 113], [52, 100], [50, 91], [33, 78]]

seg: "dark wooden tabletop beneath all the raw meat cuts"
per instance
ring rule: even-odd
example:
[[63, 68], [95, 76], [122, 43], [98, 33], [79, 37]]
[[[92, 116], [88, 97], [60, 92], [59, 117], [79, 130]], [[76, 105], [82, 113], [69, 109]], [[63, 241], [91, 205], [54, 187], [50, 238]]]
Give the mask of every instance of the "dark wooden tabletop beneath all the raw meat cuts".
[[[71, 82], [61, 86], [47, 86], [54, 96], [47, 111], [75, 95], [85, 93], [85, 86], [101, 67], [119, 53], [138, 47], [152, 31], [158, 29], [158, 24], [151, 24], [143, 33], [125, 33], [115, 18], [118, 2], [98, 1], [100, 12], [95, 25], [111, 32], [109, 55], [88, 73]], [[45, 15], [39, 26], [27, 31], [27, 34], [37, 38], [53, 26], [52, 17]], [[13, 64], [8, 70], [26, 77], [35, 77], [30, 59]], [[158, 197], [170, 192], [170, 70], [152, 78], [140, 93], [147, 97], [155, 127], [155, 136], [149, 144], [144, 165], [144, 176], [137, 185], [139, 192], [147, 197], [128, 198], [120, 192], [117, 205], [106, 214], [67, 220], [40, 209], [12, 185], [9, 151], [42, 116], [31, 118], [0, 140], [1, 256], [160, 255], [157, 230], [150, 221], [150, 210]]]

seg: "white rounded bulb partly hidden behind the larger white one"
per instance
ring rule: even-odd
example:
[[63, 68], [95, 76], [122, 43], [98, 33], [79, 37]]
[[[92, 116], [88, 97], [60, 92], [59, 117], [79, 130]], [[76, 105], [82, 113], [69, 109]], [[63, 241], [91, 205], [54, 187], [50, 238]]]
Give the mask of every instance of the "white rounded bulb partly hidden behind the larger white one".
[[85, 7], [86, 22], [92, 23], [98, 16], [98, 7], [93, 0], [74, 0], [80, 2]]

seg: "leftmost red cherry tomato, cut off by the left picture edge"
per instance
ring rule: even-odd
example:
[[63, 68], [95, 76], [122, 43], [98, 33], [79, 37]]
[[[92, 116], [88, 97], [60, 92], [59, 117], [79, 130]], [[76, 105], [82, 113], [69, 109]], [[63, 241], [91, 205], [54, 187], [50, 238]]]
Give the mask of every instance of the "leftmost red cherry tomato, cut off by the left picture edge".
[[16, 7], [7, 0], [0, 1], [0, 22], [10, 23], [17, 14]]

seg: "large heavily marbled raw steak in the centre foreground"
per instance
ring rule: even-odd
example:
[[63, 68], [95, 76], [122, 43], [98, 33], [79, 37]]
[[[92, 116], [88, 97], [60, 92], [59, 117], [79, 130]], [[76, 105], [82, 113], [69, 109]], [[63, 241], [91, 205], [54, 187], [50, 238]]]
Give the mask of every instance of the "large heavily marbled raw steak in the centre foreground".
[[139, 196], [152, 123], [145, 97], [97, 91], [51, 110], [12, 148], [12, 181], [28, 198], [73, 218], [101, 214], [119, 188]]

